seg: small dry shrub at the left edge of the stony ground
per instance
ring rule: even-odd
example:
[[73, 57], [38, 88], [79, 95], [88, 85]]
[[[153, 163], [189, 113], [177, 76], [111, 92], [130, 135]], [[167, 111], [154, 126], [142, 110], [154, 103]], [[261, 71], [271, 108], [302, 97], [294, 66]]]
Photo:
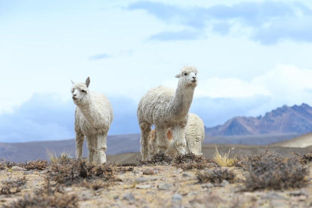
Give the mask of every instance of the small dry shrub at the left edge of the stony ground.
[[22, 185], [26, 183], [25, 177], [18, 179], [7, 179], [0, 183], [0, 194], [15, 194], [21, 191]]

